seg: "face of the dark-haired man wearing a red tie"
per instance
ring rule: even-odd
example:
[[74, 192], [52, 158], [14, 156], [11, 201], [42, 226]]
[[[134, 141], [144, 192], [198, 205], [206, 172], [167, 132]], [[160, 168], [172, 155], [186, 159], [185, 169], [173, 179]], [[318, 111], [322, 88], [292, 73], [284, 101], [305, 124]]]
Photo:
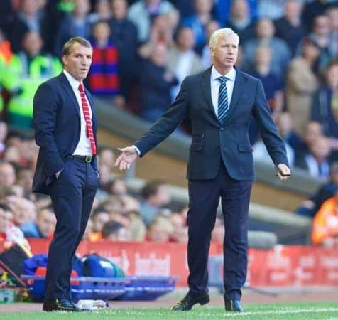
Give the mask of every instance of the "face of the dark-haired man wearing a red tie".
[[87, 78], [90, 65], [92, 64], [92, 48], [82, 46], [81, 43], [74, 43], [68, 55], [63, 55], [62, 61], [65, 70], [77, 81]]

